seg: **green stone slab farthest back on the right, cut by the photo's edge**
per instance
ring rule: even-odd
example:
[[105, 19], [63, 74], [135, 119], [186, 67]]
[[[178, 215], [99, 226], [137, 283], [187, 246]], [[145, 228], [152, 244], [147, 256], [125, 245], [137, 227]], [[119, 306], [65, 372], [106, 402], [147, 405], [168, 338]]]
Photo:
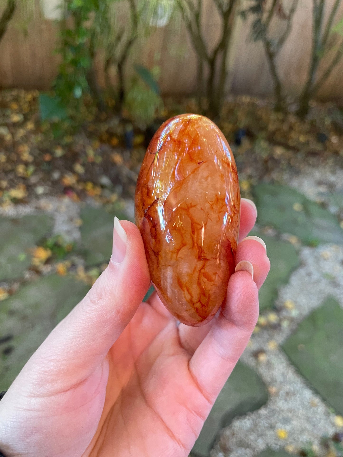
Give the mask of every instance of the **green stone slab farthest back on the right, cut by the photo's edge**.
[[[288, 186], [261, 183], [254, 187], [257, 223], [297, 236], [303, 243], [343, 244], [338, 219]], [[298, 211], [297, 211], [298, 210]]]

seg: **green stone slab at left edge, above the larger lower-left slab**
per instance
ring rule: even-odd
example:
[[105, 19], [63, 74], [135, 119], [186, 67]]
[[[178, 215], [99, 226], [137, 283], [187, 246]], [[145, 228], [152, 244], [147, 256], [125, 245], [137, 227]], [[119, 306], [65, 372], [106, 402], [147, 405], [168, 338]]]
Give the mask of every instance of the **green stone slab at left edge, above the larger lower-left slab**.
[[0, 217], [0, 281], [20, 277], [30, 266], [27, 252], [53, 228], [53, 219], [41, 214], [22, 218]]

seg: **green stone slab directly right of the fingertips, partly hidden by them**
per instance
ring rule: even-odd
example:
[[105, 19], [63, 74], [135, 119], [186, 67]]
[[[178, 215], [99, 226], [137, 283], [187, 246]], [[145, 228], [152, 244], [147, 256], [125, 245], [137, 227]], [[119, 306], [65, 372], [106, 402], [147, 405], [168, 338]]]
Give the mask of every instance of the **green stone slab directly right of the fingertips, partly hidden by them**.
[[271, 308], [278, 296], [279, 287], [287, 284], [289, 276], [299, 266], [300, 260], [293, 244], [266, 236], [253, 230], [249, 235], [259, 236], [267, 246], [270, 271], [258, 292], [260, 309]]

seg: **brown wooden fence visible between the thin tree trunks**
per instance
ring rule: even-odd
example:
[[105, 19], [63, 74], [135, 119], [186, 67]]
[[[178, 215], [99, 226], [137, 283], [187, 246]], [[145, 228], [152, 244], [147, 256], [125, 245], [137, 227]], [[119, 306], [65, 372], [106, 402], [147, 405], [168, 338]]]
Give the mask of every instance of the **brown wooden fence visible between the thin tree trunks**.
[[[45, 0], [56, 1], [56, 0]], [[327, 0], [331, 7], [334, 0]], [[279, 69], [288, 94], [301, 90], [311, 52], [312, 0], [300, 0], [292, 32], [279, 55]], [[47, 89], [57, 72], [58, 56], [54, 54], [58, 26], [41, 15], [29, 24], [27, 35], [17, 27], [9, 27], [0, 44], [0, 86]], [[337, 19], [343, 16], [343, 3]], [[204, 0], [203, 30], [213, 46], [220, 30], [220, 20], [213, 0]], [[280, 33], [275, 24], [274, 33]], [[196, 58], [183, 26], [177, 31], [167, 25], [157, 28], [131, 60], [150, 66], [160, 56], [160, 85], [163, 93], [188, 94], [195, 90]], [[326, 58], [327, 59], [327, 58]], [[261, 43], [249, 41], [249, 24], [236, 23], [230, 50], [230, 74], [227, 91], [234, 94], [268, 96], [273, 84]], [[321, 70], [326, 62], [322, 62]], [[101, 64], [99, 80], [103, 81]], [[323, 100], [343, 100], [343, 59], [318, 94]]]

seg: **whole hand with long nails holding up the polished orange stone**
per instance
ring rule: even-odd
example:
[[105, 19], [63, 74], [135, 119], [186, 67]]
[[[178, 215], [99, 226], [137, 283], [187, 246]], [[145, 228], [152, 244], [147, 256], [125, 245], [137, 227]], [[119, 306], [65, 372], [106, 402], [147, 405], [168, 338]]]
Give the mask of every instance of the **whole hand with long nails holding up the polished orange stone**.
[[[256, 208], [242, 200], [240, 239]], [[226, 303], [203, 327], [187, 327], [156, 293], [133, 223], [118, 219], [113, 255], [86, 297], [33, 354], [0, 402], [6, 456], [188, 456], [249, 341], [257, 289], [269, 260], [243, 239]], [[252, 278], [253, 268], [253, 278]]]

